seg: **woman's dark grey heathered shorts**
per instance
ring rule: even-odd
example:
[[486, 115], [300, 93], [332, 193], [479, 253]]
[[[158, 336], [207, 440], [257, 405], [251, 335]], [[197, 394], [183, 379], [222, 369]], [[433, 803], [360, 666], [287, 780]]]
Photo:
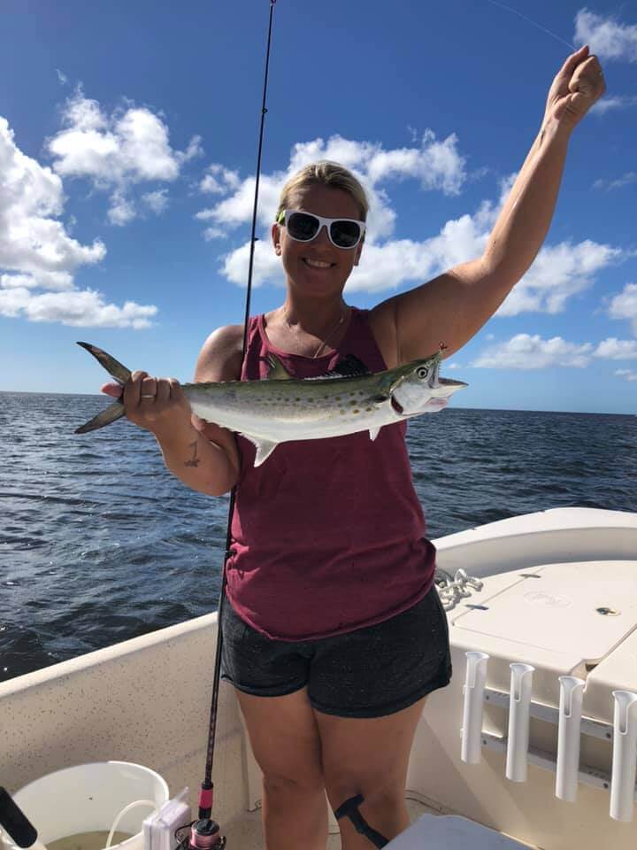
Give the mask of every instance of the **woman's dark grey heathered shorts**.
[[391, 715], [451, 678], [447, 614], [435, 587], [402, 614], [333, 638], [266, 638], [228, 599], [221, 628], [221, 678], [257, 697], [307, 686], [312, 707], [328, 715]]

